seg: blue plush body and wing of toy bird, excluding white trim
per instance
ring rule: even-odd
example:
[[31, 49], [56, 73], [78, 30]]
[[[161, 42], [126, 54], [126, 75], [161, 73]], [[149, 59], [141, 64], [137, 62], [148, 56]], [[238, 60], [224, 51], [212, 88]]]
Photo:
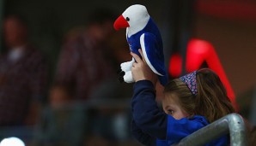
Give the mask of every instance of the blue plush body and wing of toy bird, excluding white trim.
[[143, 33], [145, 34], [144, 44], [149, 61], [155, 70], [163, 75], [158, 76], [160, 83], [162, 85], [166, 85], [168, 82], [168, 72], [164, 64], [162, 37], [154, 20], [150, 18], [148, 24], [143, 28], [143, 30], [131, 35], [131, 37], [126, 36], [130, 50], [141, 56], [138, 50], [142, 49], [140, 37]]

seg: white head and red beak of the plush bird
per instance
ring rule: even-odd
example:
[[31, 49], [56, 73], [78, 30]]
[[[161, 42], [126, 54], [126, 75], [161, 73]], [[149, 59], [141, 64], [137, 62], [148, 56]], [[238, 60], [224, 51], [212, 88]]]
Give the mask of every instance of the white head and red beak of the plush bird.
[[128, 35], [132, 35], [142, 30], [149, 21], [149, 13], [143, 5], [131, 5], [125, 12], [114, 22], [114, 28], [128, 28]]

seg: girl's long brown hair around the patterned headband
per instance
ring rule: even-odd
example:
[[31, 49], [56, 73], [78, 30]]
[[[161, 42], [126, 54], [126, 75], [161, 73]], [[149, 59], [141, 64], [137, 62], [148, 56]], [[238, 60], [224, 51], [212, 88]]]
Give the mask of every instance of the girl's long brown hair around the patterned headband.
[[174, 79], [166, 85], [164, 93], [176, 94], [180, 99], [180, 106], [187, 114], [202, 115], [210, 123], [235, 112], [224, 85], [210, 69], [198, 70], [197, 89], [198, 94], [194, 96], [185, 83], [180, 79]]

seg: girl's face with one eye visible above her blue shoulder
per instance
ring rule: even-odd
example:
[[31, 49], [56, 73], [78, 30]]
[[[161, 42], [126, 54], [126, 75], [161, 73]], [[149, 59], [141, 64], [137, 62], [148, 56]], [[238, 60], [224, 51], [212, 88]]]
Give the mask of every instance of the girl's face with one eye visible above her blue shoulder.
[[180, 120], [189, 116], [179, 104], [179, 98], [171, 93], [165, 95], [162, 100], [162, 108], [166, 114], [174, 117], [175, 120]]

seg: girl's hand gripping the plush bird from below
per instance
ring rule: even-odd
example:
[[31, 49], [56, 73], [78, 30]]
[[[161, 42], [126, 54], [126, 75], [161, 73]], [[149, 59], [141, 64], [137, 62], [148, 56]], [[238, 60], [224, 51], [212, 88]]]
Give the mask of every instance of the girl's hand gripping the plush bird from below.
[[138, 51], [140, 55], [143, 57], [143, 60], [137, 54], [131, 52], [131, 55], [136, 60], [133, 62], [131, 67], [132, 77], [135, 80], [135, 82], [146, 79], [151, 81], [153, 85], [155, 85], [157, 81], [156, 75], [147, 65], [142, 50]]

